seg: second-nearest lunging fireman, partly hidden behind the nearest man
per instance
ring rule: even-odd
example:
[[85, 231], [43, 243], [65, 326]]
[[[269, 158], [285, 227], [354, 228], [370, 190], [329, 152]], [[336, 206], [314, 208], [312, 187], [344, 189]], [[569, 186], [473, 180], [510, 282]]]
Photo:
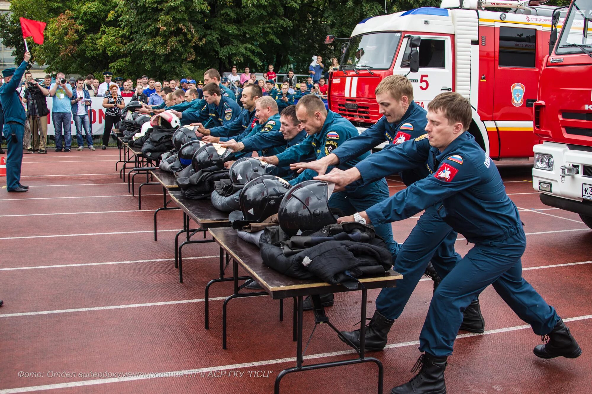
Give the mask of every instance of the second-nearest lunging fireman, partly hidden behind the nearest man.
[[[379, 112], [384, 116], [372, 127], [357, 137], [350, 138], [323, 159], [311, 163], [295, 163], [292, 169], [312, 169], [324, 174], [327, 167], [345, 163], [372, 147], [387, 140], [385, 149], [396, 149], [401, 143], [420, 137], [425, 133], [427, 124], [426, 111], [413, 101], [413, 86], [404, 75], [385, 77], [375, 91]], [[391, 175], [400, 166], [391, 163]], [[374, 174], [374, 173], [373, 173]], [[411, 169], [399, 172], [403, 183], [407, 186], [428, 175], [423, 163]], [[385, 175], [377, 174], [372, 180], [381, 179]], [[361, 187], [359, 183], [355, 186]], [[355, 186], [352, 189], [355, 189]], [[457, 238], [455, 231], [437, 215], [436, 207], [427, 208], [417, 221], [411, 235], [397, 252], [395, 270], [403, 274], [403, 280], [397, 282], [395, 288], [384, 288], [376, 300], [376, 312], [366, 328], [366, 348], [382, 350], [387, 344], [387, 334], [416, 288], [417, 283], [426, 272], [430, 263], [439, 275], [444, 277], [460, 261], [461, 257], [454, 250]], [[439, 280], [436, 279], [436, 280]], [[437, 282], [436, 282], [437, 283]], [[479, 301], [476, 299], [465, 311], [462, 330], [483, 332], [485, 323], [481, 316]], [[359, 346], [359, 330], [343, 331], [354, 345]]]

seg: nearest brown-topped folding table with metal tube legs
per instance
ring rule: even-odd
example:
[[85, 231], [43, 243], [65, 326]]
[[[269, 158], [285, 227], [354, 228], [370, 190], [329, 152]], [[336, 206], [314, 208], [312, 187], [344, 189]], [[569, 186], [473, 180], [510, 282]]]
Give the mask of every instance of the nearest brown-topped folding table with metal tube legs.
[[[328, 367], [344, 366], [349, 364], [358, 364], [372, 362], [378, 366], [378, 392], [382, 393], [382, 376], [383, 369], [382, 363], [374, 357], [365, 357], [365, 330], [366, 330], [366, 298], [368, 289], [377, 289], [385, 287], [395, 286], [395, 282], [399, 279], [403, 279], [403, 276], [393, 270], [385, 272], [384, 275], [374, 277], [360, 278], [358, 288], [350, 289], [342, 285], [331, 285], [326, 282], [320, 282], [318, 279], [294, 279], [289, 276], [285, 276], [270, 267], [263, 264], [263, 259], [260, 256], [260, 250], [257, 246], [239, 238], [236, 230], [231, 228], [211, 228], [210, 234], [214, 240], [220, 244], [221, 251], [225, 251], [231, 256], [233, 260], [233, 280], [234, 280], [234, 293], [226, 298], [222, 309], [222, 347], [226, 349], [226, 308], [228, 302], [233, 298], [242, 298], [248, 296], [261, 295], [261, 293], [268, 293], [272, 299], [283, 299], [283, 298], [298, 298], [297, 307], [295, 306], [295, 319], [296, 327], [296, 366], [283, 370], [278, 374], [275, 380], [275, 393], [279, 393], [279, 384], [282, 377], [289, 373], [301, 372], [305, 370], [321, 369]], [[259, 282], [263, 286], [264, 292], [257, 293], [240, 293], [240, 290], [247, 285], [244, 283], [239, 286], [239, 280], [241, 277], [238, 275], [239, 265], [245, 269], [250, 276]], [[336, 292], [347, 292], [361, 290], [362, 301], [361, 301], [361, 313], [360, 313], [360, 346], [354, 347], [358, 351], [358, 357], [356, 359], [342, 360], [342, 361], [331, 361], [328, 363], [310, 364], [303, 366], [303, 296], [310, 295], [314, 305], [315, 324], [325, 323], [329, 325], [337, 335], [343, 338], [336, 327], [329, 321], [329, 318], [324, 314], [324, 309], [320, 301], [319, 296], [324, 293], [336, 293]], [[208, 298], [205, 298], [206, 305]], [[297, 311], [296, 311], [297, 309]], [[314, 332], [314, 331], [313, 331]], [[345, 338], [343, 338], [345, 340]], [[346, 340], [347, 341], [347, 340]]]

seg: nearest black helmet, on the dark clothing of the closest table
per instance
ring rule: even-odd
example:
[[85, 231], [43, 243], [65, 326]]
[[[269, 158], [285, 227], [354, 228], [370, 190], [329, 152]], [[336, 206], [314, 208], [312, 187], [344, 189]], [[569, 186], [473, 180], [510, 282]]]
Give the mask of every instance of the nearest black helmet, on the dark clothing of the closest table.
[[305, 180], [292, 187], [279, 206], [278, 222], [291, 237], [336, 223], [329, 208], [327, 182]]

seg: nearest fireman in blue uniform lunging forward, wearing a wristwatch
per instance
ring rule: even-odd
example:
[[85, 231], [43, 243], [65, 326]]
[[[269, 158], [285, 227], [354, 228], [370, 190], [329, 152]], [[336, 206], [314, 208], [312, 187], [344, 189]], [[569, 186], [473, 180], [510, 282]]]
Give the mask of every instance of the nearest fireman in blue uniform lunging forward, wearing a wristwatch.
[[[436, 206], [453, 230], [475, 244], [434, 292], [420, 334], [423, 354], [416, 363], [419, 373], [391, 393], [446, 393], [444, 369], [461, 327], [462, 312], [489, 285], [535, 334], [548, 335], [548, 343], [533, 350], [536, 356], [580, 356], [580, 347], [555, 309], [522, 278], [520, 257], [526, 237], [520, 215], [495, 164], [466, 133], [471, 104], [458, 93], [441, 93], [430, 102], [428, 111], [426, 135], [372, 154], [355, 169], [337, 169], [317, 177], [340, 188], [352, 179], [392, 172], [392, 163], [399, 167], [406, 163], [403, 167], [407, 169], [424, 164], [430, 175], [360, 212], [360, 221], [387, 224]], [[339, 222], [353, 219], [344, 217]]]

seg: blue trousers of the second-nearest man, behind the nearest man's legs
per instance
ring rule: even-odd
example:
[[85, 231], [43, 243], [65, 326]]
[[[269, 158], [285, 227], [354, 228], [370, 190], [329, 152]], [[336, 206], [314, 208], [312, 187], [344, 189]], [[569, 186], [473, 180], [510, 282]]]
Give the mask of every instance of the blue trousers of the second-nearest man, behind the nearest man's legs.
[[403, 275], [396, 288], [384, 288], [376, 299], [376, 310], [389, 319], [397, 319], [432, 261], [443, 278], [456, 266], [461, 256], [454, 251], [456, 232], [430, 206], [417, 221], [398, 251], [394, 270]]

